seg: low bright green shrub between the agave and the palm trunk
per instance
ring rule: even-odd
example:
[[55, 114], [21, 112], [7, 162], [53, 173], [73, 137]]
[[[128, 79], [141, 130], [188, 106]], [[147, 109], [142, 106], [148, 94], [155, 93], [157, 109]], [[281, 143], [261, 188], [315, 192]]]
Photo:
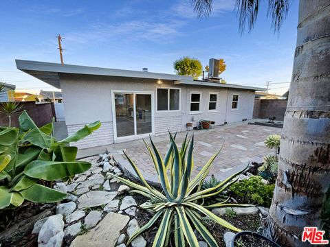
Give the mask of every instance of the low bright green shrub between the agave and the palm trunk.
[[230, 191], [244, 203], [270, 207], [275, 185], [264, 185], [261, 176], [252, 176], [230, 186]]

